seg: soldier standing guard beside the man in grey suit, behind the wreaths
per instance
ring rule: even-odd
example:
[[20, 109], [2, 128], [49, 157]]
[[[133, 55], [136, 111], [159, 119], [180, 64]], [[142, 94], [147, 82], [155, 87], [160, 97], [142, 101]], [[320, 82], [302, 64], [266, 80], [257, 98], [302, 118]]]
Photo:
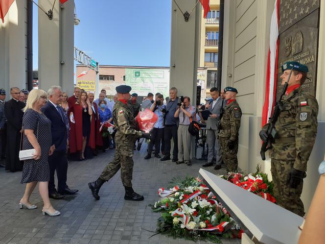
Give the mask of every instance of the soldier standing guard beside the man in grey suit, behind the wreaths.
[[238, 131], [240, 127], [241, 109], [236, 101], [237, 89], [226, 87], [224, 89], [227, 106], [221, 118], [219, 141], [222, 151], [222, 161], [227, 172], [236, 172], [238, 166]]

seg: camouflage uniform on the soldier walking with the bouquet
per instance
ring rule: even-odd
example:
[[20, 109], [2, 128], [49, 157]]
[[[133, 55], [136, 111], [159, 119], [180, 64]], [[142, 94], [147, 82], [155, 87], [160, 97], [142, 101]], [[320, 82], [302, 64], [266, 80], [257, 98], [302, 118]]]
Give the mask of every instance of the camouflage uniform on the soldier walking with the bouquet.
[[113, 161], [108, 164], [100, 179], [108, 181], [121, 168], [123, 186], [132, 187], [133, 147], [142, 132], [138, 131], [138, 124], [134, 119], [131, 108], [121, 101], [116, 101], [113, 108], [113, 121], [117, 129], [115, 135], [116, 151]]

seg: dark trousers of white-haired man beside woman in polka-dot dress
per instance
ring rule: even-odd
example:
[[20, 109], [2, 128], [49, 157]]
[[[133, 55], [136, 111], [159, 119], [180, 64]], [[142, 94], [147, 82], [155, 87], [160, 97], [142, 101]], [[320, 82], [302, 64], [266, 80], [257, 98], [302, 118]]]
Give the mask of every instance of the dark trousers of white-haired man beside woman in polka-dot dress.
[[54, 151], [51, 156], [48, 157], [49, 164], [49, 182], [48, 192], [49, 194], [55, 191], [54, 172], [58, 177], [58, 192], [62, 192], [67, 186], [67, 171], [68, 171], [68, 160], [67, 153], [65, 150]]

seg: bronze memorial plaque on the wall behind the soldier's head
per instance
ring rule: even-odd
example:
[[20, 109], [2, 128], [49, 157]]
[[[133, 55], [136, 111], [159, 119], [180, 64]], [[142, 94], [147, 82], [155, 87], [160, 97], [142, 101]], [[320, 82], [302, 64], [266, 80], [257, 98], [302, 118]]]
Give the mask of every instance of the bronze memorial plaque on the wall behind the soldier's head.
[[304, 90], [315, 96], [320, 0], [280, 0], [277, 97], [282, 91], [281, 65], [297, 61], [308, 67]]

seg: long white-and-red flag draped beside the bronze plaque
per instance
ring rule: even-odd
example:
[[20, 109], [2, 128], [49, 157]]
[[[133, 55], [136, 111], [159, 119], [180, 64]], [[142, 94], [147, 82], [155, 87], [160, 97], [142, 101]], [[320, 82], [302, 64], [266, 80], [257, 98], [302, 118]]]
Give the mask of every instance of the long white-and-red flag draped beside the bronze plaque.
[[271, 17], [270, 27], [270, 48], [267, 57], [267, 73], [265, 100], [262, 111], [262, 126], [268, 122], [271, 117], [272, 109], [275, 103], [277, 87], [277, 67], [279, 52], [279, 0], [275, 0], [274, 11]]

